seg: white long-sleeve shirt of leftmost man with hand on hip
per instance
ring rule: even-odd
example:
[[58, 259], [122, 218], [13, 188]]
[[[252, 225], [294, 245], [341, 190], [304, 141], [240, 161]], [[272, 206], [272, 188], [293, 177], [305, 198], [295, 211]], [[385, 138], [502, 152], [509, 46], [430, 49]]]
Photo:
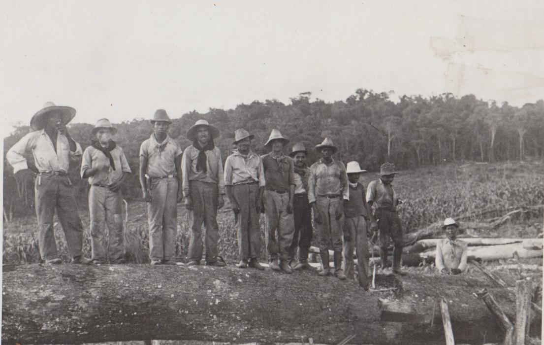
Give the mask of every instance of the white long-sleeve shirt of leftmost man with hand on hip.
[[57, 134], [57, 150], [53, 147], [51, 138], [45, 129], [33, 131], [21, 138], [5, 155], [13, 172], [28, 169], [24, 154], [31, 151], [34, 155], [34, 164], [39, 172], [68, 171], [70, 160], [81, 158], [82, 150], [76, 142], [76, 150], [70, 151], [70, 143], [64, 134]]

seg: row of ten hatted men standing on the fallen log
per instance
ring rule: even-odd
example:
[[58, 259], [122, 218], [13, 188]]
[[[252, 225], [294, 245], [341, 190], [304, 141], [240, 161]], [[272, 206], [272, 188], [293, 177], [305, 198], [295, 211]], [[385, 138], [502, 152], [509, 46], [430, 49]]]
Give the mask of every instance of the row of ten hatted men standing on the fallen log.
[[[18, 181], [37, 174], [39, 247], [45, 263], [61, 262], [53, 235], [55, 209], [72, 262], [121, 263], [121, 185], [131, 169], [122, 148], [112, 140], [116, 129], [108, 119], [98, 120], [92, 129], [95, 140], [85, 149], [81, 166], [81, 177], [88, 178], [90, 184], [92, 257], [84, 258], [83, 227], [72, 182], [66, 174], [69, 162], [82, 156], [81, 146], [66, 129], [75, 113], [71, 107], [46, 104], [30, 122], [34, 131], [10, 148], [7, 159]], [[313, 237], [313, 214], [315, 240], [322, 261], [319, 275], [331, 274], [329, 250], [332, 250], [333, 274], [342, 280], [346, 276], [353, 277], [355, 246], [359, 283], [368, 288], [367, 231], [376, 227], [380, 234], [382, 267], [387, 265], [387, 246], [392, 239], [393, 272], [402, 273], [402, 231], [395, 210], [401, 201], [391, 186], [397, 173], [392, 164], [382, 165], [381, 178], [370, 183], [365, 191], [358, 180], [366, 171], [355, 161], [349, 162], [346, 168], [341, 161], [333, 159], [338, 148], [330, 138], [316, 146], [321, 159], [307, 167], [308, 152], [302, 143], [296, 143], [292, 152], [285, 155], [283, 150], [289, 140], [274, 129], [264, 145], [270, 153], [259, 156], [251, 149], [254, 136], [238, 129], [233, 141], [236, 149], [223, 167], [220, 150], [214, 145], [214, 138], [219, 136], [217, 128], [198, 120], [187, 132], [192, 144], [183, 151], [168, 135], [170, 123], [168, 114], [157, 110], [151, 119], [153, 133], [140, 146], [139, 178], [147, 202], [152, 265], [180, 264], [175, 262], [177, 203], [184, 199], [186, 208], [193, 214], [187, 264], [200, 264], [205, 246], [205, 264], [224, 266], [225, 262], [218, 255], [217, 210], [224, 205], [226, 194], [238, 230], [239, 268], [264, 269], [257, 259], [261, 248], [259, 213], [265, 214], [270, 268], [285, 273], [310, 268], [308, 250]], [[24, 157], [28, 152], [34, 155], [34, 165]], [[376, 219], [370, 210], [373, 205]], [[206, 229], [205, 236], [202, 225]]]

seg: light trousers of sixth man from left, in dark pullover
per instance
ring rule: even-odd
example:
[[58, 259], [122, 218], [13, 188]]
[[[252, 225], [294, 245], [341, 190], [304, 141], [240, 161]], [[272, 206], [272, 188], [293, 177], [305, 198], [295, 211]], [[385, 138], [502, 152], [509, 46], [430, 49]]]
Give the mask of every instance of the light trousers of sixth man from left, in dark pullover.
[[287, 250], [293, 242], [295, 231], [293, 213], [287, 212], [289, 192], [265, 190], [263, 201], [268, 258], [274, 261], [280, 257], [281, 261], [287, 261]]

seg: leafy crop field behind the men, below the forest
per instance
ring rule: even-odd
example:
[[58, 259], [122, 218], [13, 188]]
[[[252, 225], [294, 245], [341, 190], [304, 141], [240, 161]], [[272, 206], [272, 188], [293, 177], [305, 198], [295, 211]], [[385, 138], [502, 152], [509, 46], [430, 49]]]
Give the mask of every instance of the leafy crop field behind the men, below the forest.
[[[541, 162], [504, 164], [449, 164], [401, 171], [393, 181], [395, 190], [405, 203], [399, 207], [401, 221], [406, 231], [428, 226], [448, 216], [471, 214], [471, 220], [482, 218], [479, 214], [495, 210], [497, 216], [512, 208], [523, 208], [544, 203]], [[361, 182], [367, 185], [378, 178], [364, 174]], [[90, 256], [89, 215], [86, 203], [79, 203], [85, 229], [83, 250]], [[480, 212], [480, 213], [479, 213]], [[489, 217], [489, 214], [486, 214]], [[228, 202], [218, 215], [219, 252], [227, 261], [238, 258], [237, 231]], [[176, 252], [185, 261], [190, 236], [190, 214], [180, 204], [178, 207], [178, 233]], [[261, 219], [262, 257], [264, 254], [264, 216]], [[39, 262], [36, 218], [29, 216], [4, 222], [5, 264]], [[504, 237], [536, 237], [542, 231], [542, 208], [512, 219], [491, 235]], [[55, 237], [63, 261], [69, 261], [60, 224], [55, 221]], [[489, 234], [487, 234], [489, 235]], [[146, 207], [143, 202], [129, 202], [125, 226], [126, 258], [132, 263], [149, 262], [148, 227]]]

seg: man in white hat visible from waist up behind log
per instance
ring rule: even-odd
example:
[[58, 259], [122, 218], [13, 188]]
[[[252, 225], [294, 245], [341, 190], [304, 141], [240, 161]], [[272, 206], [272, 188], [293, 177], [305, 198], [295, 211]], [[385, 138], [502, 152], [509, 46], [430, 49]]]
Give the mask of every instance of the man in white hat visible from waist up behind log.
[[436, 270], [441, 274], [460, 274], [467, 269], [467, 243], [456, 239], [459, 225], [453, 218], [446, 218], [442, 229], [446, 238], [436, 244]]

